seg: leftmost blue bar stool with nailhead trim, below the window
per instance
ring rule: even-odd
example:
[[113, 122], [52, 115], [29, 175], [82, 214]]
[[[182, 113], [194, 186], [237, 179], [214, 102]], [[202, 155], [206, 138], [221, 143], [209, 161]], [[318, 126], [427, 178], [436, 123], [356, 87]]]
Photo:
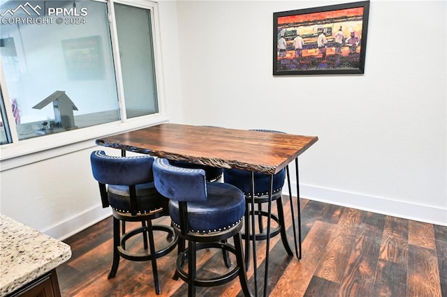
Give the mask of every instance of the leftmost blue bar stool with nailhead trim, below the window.
[[[106, 155], [104, 151], [94, 151], [90, 160], [91, 171], [99, 184], [103, 208], [112, 208], [113, 261], [108, 278], [115, 277], [120, 257], [130, 261], [152, 261], [155, 291], [161, 294], [156, 259], [174, 250], [178, 237], [172, 227], [152, 224], [152, 220], [168, 215], [169, 202], [154, 186], [154, 157], [114, 157]], [[124, 222], [141, 222], [142, 226], [125, 232], [124, 224], [120, 228], [120, 223]], [[166, 242], [161, 242], [163, 246], [158, 250], [154, 245], [154, 230], [167, 234]], [[142, 234], [142, 249], [126, 250], [126, 241], [138, 234]]]

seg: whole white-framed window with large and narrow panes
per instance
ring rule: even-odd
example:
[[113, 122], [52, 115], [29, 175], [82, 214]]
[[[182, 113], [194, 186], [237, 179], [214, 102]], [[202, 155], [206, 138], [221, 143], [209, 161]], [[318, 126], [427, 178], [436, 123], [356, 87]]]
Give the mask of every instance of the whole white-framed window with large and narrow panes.
[[153, 17], [138, 0], [1, 4], [1, 144], [159, 113]]

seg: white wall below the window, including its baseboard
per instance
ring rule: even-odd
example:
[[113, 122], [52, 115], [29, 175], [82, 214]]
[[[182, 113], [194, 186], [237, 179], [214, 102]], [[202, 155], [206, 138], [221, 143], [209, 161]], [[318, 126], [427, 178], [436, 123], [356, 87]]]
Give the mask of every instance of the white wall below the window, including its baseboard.
[[[94, 146], [94, 142], [91, 142]], [[83, 149], [1, 172], [1, 213], [56, 238], [111, 214], [98, 204], [90, 151]], [[107, 150], [119, 155], [118, 150]]]

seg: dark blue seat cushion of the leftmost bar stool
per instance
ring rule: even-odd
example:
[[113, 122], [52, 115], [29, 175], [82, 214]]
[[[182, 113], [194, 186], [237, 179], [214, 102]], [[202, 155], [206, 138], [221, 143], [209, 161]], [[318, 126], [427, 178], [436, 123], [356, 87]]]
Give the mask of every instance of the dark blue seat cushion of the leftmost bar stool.
[[[156, 190], [154, 182], [136, 185], [135, 190], [137, 213], [149, 213], [159, 208], [168, 209], [169, 200]], [[129, 213], [131, 211], [129, 185], [108, 185], [108, 200], [116, 211]]]

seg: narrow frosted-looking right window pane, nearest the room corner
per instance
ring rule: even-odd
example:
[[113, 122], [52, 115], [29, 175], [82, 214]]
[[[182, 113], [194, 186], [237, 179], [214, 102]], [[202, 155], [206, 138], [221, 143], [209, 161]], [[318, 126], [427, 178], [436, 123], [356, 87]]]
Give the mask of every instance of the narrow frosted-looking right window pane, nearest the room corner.
[[126, 116], [158, 112], [150, 11], [115, 3]]

